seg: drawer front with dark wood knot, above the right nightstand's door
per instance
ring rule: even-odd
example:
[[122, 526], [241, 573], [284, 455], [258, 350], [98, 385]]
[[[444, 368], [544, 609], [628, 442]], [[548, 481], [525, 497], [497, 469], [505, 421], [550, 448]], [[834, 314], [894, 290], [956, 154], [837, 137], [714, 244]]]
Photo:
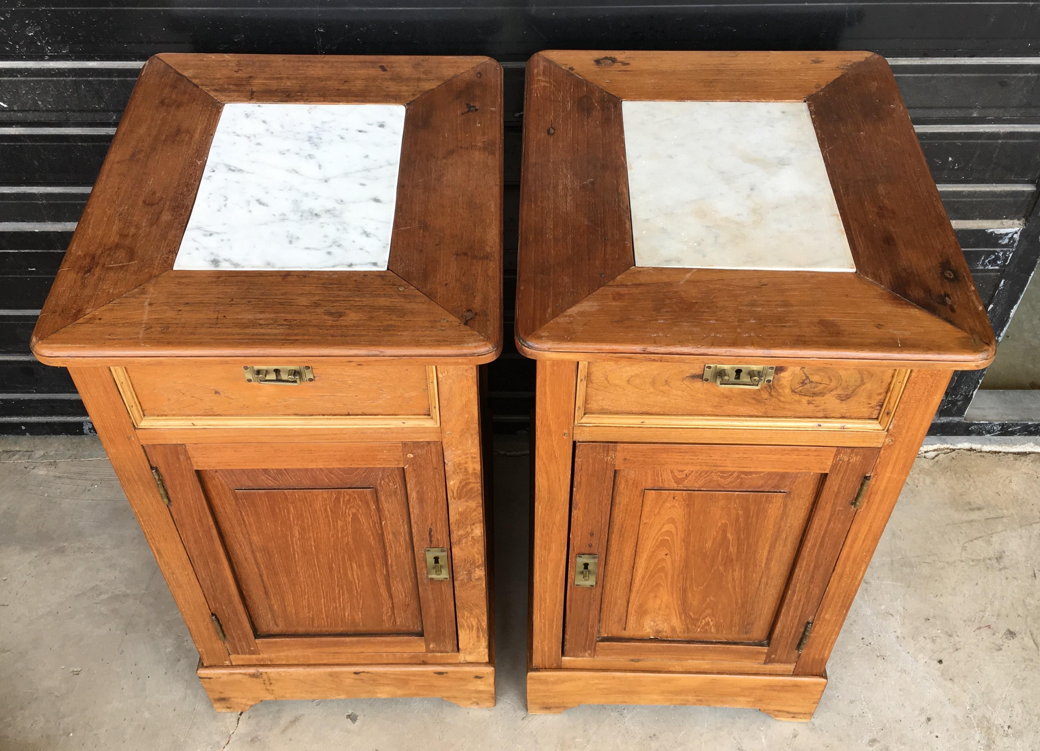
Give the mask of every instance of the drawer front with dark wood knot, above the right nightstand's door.
[[575, 423], [885, 431], [908, 374], [777, 366], [773, 383], [727, 388], [706, 383], [700, 363], [582, 362]]

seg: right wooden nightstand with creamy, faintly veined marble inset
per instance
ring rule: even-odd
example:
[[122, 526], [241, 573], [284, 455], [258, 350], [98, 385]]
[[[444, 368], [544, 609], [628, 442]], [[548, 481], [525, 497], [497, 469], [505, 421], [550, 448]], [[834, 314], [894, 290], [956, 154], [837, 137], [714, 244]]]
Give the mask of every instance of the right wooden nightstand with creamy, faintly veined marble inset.
[[807, 720], [955, 369], [993, 335], [885, 60], [544, 52], [530, 711]]

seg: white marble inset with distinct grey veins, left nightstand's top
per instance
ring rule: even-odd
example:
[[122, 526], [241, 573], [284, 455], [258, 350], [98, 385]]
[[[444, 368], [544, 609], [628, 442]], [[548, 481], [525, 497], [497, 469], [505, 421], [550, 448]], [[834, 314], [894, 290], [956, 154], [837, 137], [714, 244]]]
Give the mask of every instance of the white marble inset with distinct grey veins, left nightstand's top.
[[398, 104], [226, 104], [175, 269], [385, 269]]

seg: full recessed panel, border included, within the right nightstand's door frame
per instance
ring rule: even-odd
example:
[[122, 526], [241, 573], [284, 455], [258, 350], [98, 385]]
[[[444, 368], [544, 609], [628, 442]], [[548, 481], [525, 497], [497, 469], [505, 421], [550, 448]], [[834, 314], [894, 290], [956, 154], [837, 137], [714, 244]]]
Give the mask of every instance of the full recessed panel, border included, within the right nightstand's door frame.
[[764, 642], [816, 485], [812, 473], [619, 472], [600, 637]]

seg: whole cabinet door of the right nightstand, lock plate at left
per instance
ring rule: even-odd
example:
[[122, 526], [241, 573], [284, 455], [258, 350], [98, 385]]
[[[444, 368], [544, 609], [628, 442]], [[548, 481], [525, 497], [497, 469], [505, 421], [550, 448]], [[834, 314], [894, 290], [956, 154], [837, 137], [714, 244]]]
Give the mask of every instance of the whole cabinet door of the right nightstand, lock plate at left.
[[578, 444], [565, 656], [794, 664], [877, 454]]

